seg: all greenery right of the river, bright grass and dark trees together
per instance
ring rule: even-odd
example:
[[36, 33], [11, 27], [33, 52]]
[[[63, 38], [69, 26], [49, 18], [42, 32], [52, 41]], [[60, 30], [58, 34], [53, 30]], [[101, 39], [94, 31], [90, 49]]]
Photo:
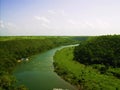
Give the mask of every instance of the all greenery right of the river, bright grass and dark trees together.
[[119, 90], [119, 41], [119, 35], [92, 37], [57, 51], [55, 71], [80, 90]]

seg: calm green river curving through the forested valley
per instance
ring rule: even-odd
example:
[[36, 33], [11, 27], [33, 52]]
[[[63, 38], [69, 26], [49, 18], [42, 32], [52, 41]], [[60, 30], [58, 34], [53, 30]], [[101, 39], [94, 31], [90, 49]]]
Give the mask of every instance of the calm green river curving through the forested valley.
[[34, 55], [30, 61], [20, 64], [14, 72], [17, 84], [25, 85], [29, 90], [76, 90], [54, 72], [53, 56], [64, 47]]

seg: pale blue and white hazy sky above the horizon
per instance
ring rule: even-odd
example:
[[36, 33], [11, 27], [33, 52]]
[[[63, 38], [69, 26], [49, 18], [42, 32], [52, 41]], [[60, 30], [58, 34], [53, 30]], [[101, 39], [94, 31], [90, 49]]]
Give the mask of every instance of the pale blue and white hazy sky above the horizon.
[[120, 0], [0, 0], [0, 36], [120, 34]]

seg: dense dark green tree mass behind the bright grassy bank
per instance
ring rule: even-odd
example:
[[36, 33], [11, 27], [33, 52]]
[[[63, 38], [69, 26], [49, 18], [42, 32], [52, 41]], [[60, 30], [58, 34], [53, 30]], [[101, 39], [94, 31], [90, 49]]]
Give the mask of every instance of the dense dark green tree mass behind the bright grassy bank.
[[74, 50], [74, 59], [80, 63], [120, 67], [120, 35], [90, 38]]

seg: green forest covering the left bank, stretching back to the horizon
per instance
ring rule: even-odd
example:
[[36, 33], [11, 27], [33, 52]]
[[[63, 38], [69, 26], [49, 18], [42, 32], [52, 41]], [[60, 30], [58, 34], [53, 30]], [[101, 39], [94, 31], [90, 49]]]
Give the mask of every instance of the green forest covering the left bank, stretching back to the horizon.
[[23, 85], [15, 86], [16, 79], [12, 73], [19, 64], [17, 61], [54, 47], [78, 43], [78, 38], [84, 39], [58, 36], [0, 37], [0, 90], [27, 90]]

